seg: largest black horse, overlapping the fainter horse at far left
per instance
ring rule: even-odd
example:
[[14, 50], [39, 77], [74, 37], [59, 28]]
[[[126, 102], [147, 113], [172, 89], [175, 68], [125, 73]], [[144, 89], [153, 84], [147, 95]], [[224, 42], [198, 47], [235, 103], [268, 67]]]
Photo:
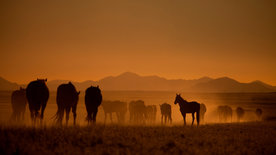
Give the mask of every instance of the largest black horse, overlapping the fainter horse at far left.
[[[49, 98], [49, 90], [46, 81], [47, 79], [37, 79], [36, 81], [30, 82], [26, 89], [31, 119], [34, 124], [38, 117], [40, 117], [41, 123], [43, 120], [44, 110]], [[40, 109], [41, 113], [39, 114]]]

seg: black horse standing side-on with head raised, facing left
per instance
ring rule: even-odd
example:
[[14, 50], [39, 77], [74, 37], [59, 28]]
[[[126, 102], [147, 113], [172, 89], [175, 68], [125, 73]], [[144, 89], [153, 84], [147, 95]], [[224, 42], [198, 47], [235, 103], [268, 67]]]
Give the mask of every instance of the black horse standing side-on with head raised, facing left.
[[199, 125], [200, 104], [195, 101], [187, 102], [180, 96], [180, 94], [176, 94], [174, 104], [177, 104], [177, 103], [180, 107], [180, 112], [184, 119], [184, 125], [186, 125], [186, 113], [192, 113], [192, 117], [193, 117], [192, 125], [194, 124], [194, 120], [195, 120], [194, 114], [196, 113], [197, 125]]

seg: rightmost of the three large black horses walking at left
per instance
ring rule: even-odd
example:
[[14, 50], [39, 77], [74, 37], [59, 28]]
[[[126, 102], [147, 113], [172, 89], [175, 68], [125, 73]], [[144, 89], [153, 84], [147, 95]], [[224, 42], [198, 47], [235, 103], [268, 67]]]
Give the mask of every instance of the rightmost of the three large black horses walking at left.
[[87, 111], [87, 121], [88, 124], [92, 121], [93, 123], [96, 122], [96, 117], [98, 113], [98, 107], [102, 103], [102, 93], [99, 88], [97, 87], [89, 87], [85, 91], [85, 106]]

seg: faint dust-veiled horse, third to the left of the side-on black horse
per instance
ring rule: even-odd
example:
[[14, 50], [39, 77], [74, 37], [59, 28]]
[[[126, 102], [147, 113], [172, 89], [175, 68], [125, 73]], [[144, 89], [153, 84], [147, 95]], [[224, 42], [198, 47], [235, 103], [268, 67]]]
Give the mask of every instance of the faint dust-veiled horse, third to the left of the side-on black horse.
[[144, 101], [137, 100], [129, 103], [129, 117], [131, 123], [145, 123], [147, 111]]

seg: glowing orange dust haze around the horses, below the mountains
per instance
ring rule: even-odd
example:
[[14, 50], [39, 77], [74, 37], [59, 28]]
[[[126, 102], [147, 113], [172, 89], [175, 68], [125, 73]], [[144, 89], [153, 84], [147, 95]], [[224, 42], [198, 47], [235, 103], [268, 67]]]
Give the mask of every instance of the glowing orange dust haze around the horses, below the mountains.
[[[24, 124], [31, 125], [30, 113], [28, 106], [26, 107], [24, 120], [19, 122], [11, 121], [11, 103], [10, 103], [11, 92], [1, 92], [0, 98], [0, 115], [1, 124]], [[276, 101], [276, 95], [267, 96], [265, 94], [239, 94], [239, 93], [182, 93], [181, 96], [187, 101], [197, 101], [198, 103], [204, 103], [207, 107], [205, 113], [204, 121], [201, 124], [209, 123], [234, 123], [237, 122], [236, 108], [242, 107], [245, 110], [244, 117], [240, 122], [256, 121], [255, 110], [256, 108], [261, 108], [264, 111], [263, 118], [274, 117], [273, 112], [275, 110], [274, 103]], [[265, 102], [263, 98], [270, 97], [270, 102]], [[144, 91], [103, 91], [103, 100], [120, 100], [129, 103], [133, 100], [143, 100], [145, 105], [156, 105], [156, 121], [155, 123], [145, 123], [140, 125], [161, 125], [161, 113], [159, 105], [163, 103], [169, 103], [172, 107], [172, 125], [183, 125], [183, 117], [180, 113], [179, 106], [174, 104], [175, 92], [144, 92]], [[266, 100], [267, 101], [267, 100]], [[218, 119], [217, 107], [221, 105], [228, 105], [233, 110], [232, 119], [226, 122], [221, 122]], [[274, 108], [274, 110], [272, 110]], [[56, 92], [50, 92], [50, 98], [48, 100], [44, 124], [55, 125], [54, 116], [57, 112], [56, 105]], [[77, 106], [77, 125], [86, 125], [86, 108], [84, 104], [84, 92], [80, 93], [79, 102]], [[102, 106], [99, 107], [97, 115], [97, 123], [104, 123], [104, 111]], [[125, 116], [125, 123], [123, 125], [129, 125], [129, 111], [127, 111]], [[115, 113], [112, 114], [112, 122], [110, 116], [108, 115], [106, 119], [107, 124], [118, 124], [117, 117]], [[186, 117], [187, 124], [191, 124], [192, 116], [187, 114]], [[65, 122], [65, 120], [63, 121]], [[69, 125], [73, 124], [73, 114], [70, 112]]]

